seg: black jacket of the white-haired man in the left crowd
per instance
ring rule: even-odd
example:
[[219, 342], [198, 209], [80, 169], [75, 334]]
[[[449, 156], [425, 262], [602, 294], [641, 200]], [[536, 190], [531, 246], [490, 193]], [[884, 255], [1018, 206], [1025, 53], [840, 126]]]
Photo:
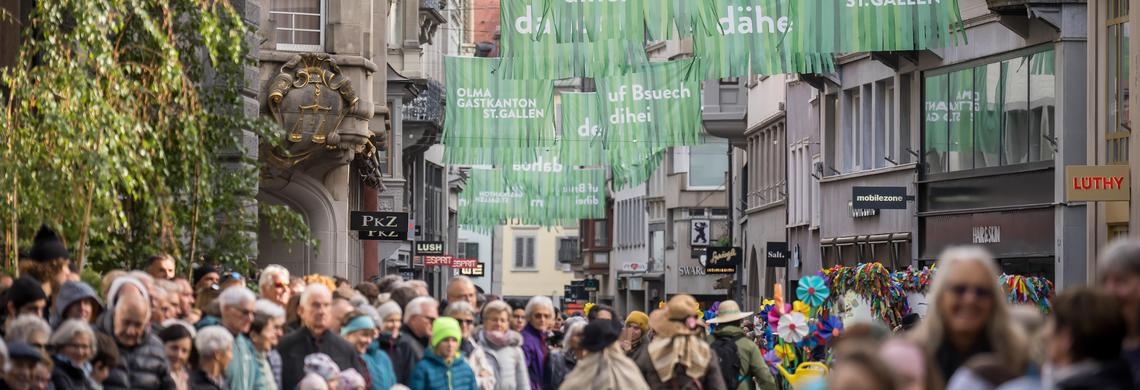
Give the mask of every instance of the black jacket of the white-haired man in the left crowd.
[[356, 368], [358, 373], [368, 372], [368, 368], [360, 364], [356, 348], [332, 331], [326, 331], [319, 339], [315, 339], [309, 328], [299, 328], [282, 338], [277, 351], [282, 355], [280, 388], [286, 390], [296, 388], [304, 377], [304, 357], [317, 352], [328, 355], [342, 371]]

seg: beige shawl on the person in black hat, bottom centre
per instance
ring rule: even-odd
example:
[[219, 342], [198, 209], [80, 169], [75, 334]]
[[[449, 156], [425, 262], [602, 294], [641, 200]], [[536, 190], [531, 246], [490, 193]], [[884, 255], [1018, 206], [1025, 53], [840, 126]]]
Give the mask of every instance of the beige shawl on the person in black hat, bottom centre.
[[649, 384], [641, 376], [637, 364], [626, 357], [618, 343], [610, 344], [602, 351], [591, 352], [578, 360], [560, 389], [592, 390], [649, 390]]

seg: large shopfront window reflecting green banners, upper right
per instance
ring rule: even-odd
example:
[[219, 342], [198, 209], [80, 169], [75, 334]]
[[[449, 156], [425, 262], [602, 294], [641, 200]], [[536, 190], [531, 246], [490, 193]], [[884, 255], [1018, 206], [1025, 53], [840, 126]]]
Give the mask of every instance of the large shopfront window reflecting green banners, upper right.
[[1053, 51], [928, 75], [923, 97], [927, 173], [1053, 159]]

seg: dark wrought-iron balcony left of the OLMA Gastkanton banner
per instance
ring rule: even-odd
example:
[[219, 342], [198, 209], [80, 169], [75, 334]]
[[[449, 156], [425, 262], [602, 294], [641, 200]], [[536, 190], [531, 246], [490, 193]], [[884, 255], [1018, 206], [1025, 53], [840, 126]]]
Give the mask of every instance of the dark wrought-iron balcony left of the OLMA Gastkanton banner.
[[443, 131], [443, 86], [426, 80], [420, 95], [400, 106], [404, 133], [414, 141], [405, 143], [405, 153], [426, 151], [439, 141]]

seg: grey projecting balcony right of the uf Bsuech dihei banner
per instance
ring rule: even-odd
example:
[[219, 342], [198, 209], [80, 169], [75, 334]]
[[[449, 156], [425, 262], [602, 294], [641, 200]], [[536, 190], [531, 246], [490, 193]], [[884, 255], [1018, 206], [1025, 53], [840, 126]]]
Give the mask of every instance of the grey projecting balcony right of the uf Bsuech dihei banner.
[[705, 131], [728, 139], [730, 144], [742, 145], [748, 128], [747, 78], [706, 81], [701, 88], [701, 117]]

